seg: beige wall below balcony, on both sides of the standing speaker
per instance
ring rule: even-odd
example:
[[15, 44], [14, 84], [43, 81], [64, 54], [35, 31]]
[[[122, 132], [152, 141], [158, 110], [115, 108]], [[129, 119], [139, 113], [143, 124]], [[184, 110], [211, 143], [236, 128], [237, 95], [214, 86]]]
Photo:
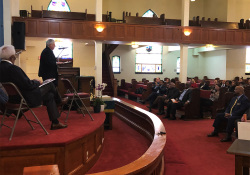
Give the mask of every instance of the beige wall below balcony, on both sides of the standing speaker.
[[[20, 55], [20, 67], [31, 79], [38, 77], [39, 56], [45, 48], [47, 38], [26, 38], [26, 51]], [[94, 46], [85, 46], [82, 40], [73, 40], [73, 66], [80, 67], [80, 75], [94, 76]]]

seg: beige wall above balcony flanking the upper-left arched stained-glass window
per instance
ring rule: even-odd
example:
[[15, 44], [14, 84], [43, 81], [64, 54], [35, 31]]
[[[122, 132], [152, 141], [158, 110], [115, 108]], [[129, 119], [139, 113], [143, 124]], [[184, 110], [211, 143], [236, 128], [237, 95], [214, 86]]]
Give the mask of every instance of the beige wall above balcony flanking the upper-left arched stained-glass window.
[[[31, 5], [33, 10], [47, 10], [50, 0], [20, 0], [20, 10], [28, 10], [30, 12]], [[95, 0], [67, 0], [72, 12], [85, 12], [95, 14]]]

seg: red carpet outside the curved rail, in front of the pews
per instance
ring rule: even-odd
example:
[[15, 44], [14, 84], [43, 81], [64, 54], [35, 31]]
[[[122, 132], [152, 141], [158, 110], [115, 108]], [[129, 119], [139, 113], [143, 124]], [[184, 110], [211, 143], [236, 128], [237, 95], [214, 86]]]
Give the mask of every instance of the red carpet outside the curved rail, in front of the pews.
[[[146, 105], [120, 98], [148, 110]], [[154, 114], [157, 113], [153, 109]], [[159, 116], [162, 118], [163, 116]], [[162, 119], [167, 131], [164, 150], [166, 175], [233, 175], [234, 155], [226, 151], [232, 144], [221, 143], [219, 138], [208, 138], [213, 130], [213, 119], [193, 121]]]

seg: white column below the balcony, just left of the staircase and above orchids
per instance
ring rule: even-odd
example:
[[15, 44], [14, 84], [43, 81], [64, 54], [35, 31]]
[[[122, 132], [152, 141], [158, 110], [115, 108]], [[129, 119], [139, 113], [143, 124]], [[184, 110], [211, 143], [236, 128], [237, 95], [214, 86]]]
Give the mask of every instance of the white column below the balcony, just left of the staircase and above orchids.
[[[95, 41], [95, 85], [102, 83], [102, 42]], [[96, 91], [97, 95], [98, 92]]]

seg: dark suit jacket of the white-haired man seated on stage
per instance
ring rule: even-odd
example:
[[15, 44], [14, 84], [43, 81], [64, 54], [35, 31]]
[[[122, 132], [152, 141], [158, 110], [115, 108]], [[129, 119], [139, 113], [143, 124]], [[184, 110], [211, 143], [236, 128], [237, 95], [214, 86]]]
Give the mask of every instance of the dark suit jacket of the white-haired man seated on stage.
[[[41, 105], [42, 97], [39, 89], [40, 83], [35, 80], [30, 80], [20, 67], [2, 61], [0, 63], [0, 82], [14, 83], [30, 107]], [[14, 97], [9, 97], [9, 100], [14, 103], [20, 102], [20, 99]]]

